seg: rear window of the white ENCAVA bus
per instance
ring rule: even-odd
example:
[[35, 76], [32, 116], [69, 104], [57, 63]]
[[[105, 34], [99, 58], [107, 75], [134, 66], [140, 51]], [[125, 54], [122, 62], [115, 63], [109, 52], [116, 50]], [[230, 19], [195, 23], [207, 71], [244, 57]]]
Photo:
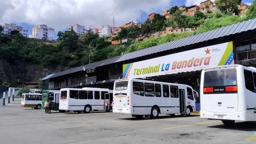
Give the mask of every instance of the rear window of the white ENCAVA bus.
[[204, 87], [236, 85], [235, 68], [211, 70], [204, 73]]

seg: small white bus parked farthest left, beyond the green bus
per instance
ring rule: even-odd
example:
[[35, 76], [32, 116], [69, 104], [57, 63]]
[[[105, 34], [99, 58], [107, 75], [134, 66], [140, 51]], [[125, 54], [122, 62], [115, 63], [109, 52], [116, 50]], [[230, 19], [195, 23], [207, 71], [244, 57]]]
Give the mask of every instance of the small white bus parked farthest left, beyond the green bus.
[[21, 106], [26, 108], [41, 109], [42, 94], [24, 93], [21, 95]]

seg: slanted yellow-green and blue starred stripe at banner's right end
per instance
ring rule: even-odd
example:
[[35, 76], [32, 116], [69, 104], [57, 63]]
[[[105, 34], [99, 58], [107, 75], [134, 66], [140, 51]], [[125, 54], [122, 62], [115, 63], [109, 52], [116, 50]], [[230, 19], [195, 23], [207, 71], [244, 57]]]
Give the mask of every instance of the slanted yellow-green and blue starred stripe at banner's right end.
[[220, 59], [218, 66], [234, 64], [233, 42], [228, 42], [228, 46]]

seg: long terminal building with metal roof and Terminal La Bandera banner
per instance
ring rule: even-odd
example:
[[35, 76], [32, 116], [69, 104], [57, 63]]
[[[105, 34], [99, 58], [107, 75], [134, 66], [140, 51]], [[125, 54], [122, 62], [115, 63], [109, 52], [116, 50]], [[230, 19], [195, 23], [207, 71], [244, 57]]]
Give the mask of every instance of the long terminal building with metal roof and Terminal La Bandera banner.
[[120, 78], [188, 84], [199, 93], [202, 69], [256, 66], [256, 19], [50, 74], [44, 88], [99, 87], [113, 90]]

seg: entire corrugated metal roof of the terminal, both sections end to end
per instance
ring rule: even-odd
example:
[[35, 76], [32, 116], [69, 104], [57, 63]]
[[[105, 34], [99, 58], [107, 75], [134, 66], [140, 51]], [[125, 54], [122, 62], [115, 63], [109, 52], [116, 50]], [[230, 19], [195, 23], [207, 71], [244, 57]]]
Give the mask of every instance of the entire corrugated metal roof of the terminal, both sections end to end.
[[204, 42], [207, 40], [212, 40], [215, 38], [221, 38], [224, 36], [228, 36], [231, 34], [236, 34], [236, 33], [240, 33], [240, 32], [246, 32], [248, 30], [254, 30], [256, 29], [256, 18], [254, 19], [250, 19], [250, 20], [246, 20], [243, 22], [239, 22], [236, 24], [232, 24], [229, 26], [224, 26], [222, 28], [217, 28], [214, 30], [210, 30], [208, 32], [203, 32], [201, 34], [195, 34], [193, 36], [189, 36], [186, 38], [182, 38], [179, 40], [174, 40], [171, 42], [167, 42], [165, 44], [160, 44], [157, 46], [152, 46], [150, 48], [145, 48], [142, 50], [138, 50], [135, 52], [130, 52], [127, 54], [123, 54], [122, 56], [116, 56], [114, 58], [109, 58], [106, 60], [101, 60], [99, 62], [94, 62], [92, 64], [87, 64], [84, 66], [79, 66], [76, 68], [72, 68], [70, 70], [64, 70], [62, 72], [58, 72], [52, 76], [50, 76], [50, 78], [54, 78], [57, 76], [62, 76], [62, 75], [66, 75], [66, 74], [70, 74], [70, 73], [74, 73], [74, 72], [78, 72], [78, 71], [82, 71], [83, 67], [85, 69], [89, 69], [89, 68], [95, 68], [98, 66], [104, 66], [107, 64], [112, 64], [112, 63], [116, 63], [116, 62], [122, 62], [125, 60], [130, 60], [133, 58], [138, 58], [141, 56], [146, 56], [149, 54], [155, 54], [158, 52], [162, 52], [162, 51], [166, 51], [166, 50], [171, 50], [174, 48], [180, 48], [180, 47], [184, 47], [184, 46], [188, 46], [191, 44], [196, 44], [198, 42]]

